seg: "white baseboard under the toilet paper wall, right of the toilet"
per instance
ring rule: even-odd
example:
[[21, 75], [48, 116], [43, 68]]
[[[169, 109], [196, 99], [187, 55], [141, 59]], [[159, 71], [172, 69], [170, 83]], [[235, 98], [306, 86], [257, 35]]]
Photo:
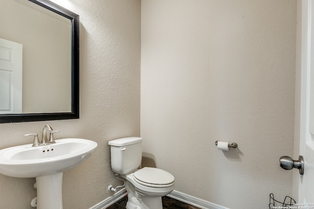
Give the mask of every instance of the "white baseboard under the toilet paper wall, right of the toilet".
[[183, 203], [190, 204], [192, 206], [196, 206], [201, 209], [228, 209], [223, 206], [219, 206], [214, 203], [210, 203], [208, 201], [184, 194], [180, 191], [173, 190], [170, 194], [167, 195], [168, 197], [171, 197], [173, 199], [179, 200]]

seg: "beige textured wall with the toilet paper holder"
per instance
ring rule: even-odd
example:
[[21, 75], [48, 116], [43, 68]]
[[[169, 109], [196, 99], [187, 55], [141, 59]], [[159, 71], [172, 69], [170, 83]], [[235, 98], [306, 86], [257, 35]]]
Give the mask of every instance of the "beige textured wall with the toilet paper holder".
[[279, 158], [293, 155], [296, 7], [142, 0], [143, 149], [176, 190], [232, 209], [291, 195]]

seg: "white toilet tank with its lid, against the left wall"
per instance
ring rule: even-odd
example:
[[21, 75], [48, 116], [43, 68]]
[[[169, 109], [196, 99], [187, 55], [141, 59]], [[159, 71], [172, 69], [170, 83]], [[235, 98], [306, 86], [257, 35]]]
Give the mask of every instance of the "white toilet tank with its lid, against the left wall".
[[111, 168], [114, 173], [127, 174], [142, 161], [142, 138], [128, 137], [108, 142], [111, 150]]

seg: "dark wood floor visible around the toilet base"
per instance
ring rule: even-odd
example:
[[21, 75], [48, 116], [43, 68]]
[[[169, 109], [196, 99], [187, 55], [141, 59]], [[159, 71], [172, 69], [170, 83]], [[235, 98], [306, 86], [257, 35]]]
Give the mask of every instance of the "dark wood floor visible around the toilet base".
[[[118, 202], [109, 206], [107, 209], [126, 209], [127, 202], [128, 202], [128, 197], [125, 196], [124, 198], [118, 200]], [[163, 209], [200, 209], [200, 208], [183, 203], [179, 200], [173, 199], [168, 196], [162, 197], [162, 208]]]

